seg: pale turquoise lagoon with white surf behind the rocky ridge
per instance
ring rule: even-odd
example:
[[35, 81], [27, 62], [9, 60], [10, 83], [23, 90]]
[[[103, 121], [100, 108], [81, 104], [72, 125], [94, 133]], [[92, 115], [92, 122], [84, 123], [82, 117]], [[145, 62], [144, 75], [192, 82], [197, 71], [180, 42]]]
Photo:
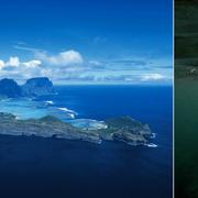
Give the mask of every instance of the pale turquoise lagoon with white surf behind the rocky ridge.
[[9, 112], [19, 120], [41, 119], [45, 116], [54, 116], [64, 122], [69, 122], [82, 129], [106, 129], [103, 121], [77, 118], [78, 113], [66, 107], [58, 108], [51, 100], [36, 101], [35, 99], [3, 99], [0, 101], [0, 111]]

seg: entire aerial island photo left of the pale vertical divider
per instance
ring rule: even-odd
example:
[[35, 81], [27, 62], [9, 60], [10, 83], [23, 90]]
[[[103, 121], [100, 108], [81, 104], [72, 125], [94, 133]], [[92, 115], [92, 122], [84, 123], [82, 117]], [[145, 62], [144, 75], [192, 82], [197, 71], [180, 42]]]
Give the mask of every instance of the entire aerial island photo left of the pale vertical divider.
[[0, 197], [172, 197], [172, 11], [2, 3]]

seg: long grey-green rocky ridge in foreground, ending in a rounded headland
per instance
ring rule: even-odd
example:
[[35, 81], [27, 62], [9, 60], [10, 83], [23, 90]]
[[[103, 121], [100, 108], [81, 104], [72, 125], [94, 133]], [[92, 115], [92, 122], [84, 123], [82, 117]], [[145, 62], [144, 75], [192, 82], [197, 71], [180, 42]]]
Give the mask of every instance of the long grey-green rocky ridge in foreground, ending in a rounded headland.
[[88, 130], [76, 128], [52, 116], [18, 120], [13, 114], [1, 112], [0, 134], [82, 140], [97, 144], [102, 141], [121, 141], [130, 145], [145, 145], [152, 138], [147, 124], [142, 124], [130, 117], [107, 119], [105, 123], [106, 129]]

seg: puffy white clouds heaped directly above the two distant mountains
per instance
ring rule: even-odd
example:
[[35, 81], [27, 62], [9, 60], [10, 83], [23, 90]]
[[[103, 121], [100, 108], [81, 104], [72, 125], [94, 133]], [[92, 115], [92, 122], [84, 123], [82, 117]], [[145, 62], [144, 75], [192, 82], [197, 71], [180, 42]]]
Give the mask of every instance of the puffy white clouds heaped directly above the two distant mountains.
[[21, 62], [18, 56], [11, 56], [7, 62], [0, 59], [0, 78], [9, 77], [23, 81], [35, 76], [47, 76], [57, 80], [73, 74], [79, 75], [87, 69], [82, 65], [82, 56], [76, 51], [66, 51], [54, 56], [36, 51], [35, 55], [37, 58], [26, 62]]

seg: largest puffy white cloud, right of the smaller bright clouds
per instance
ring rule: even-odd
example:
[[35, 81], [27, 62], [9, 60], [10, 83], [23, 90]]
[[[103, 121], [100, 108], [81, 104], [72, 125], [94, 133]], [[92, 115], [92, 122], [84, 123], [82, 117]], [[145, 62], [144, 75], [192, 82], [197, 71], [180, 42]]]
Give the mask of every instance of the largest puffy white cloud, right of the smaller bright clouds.
[[50, 65], [57, 65], [57, 66], [76, 65], [76, 64], [81, 64], [84, 62], [80, 53], [74, 50], [65, 51], [54, 56], [48, 56], [44, 52], [37, 52], [36, 57], [43, 61], [44, 63], [47, 63]]

